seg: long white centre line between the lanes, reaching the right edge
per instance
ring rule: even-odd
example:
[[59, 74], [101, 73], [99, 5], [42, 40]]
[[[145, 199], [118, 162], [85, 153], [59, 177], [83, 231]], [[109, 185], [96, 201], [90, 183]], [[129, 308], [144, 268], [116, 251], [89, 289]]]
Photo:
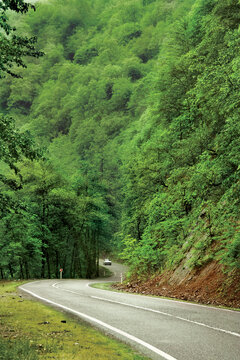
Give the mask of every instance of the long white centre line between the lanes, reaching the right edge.
[[238, 337], [240, 337], [240, 334], [238, 334], [238, 333], [236, 333], [236, 332], [224, 330], [224, 329], [221, 329], [221, 328], [216, 328], [216, 327], [213, 327], [213, 326], [204, 324], [204, 323], [200, 323], [200, 322], [197, 322], [197, 321], [193, 321], [193, 320], [189, 320], [189, 319], [182, 318], [182, 317], [180, 317], [180, 316], [175, 316], [175, 315], [172, 315], [172, 314], [169, 314], [169, 313], [165, 313], [165, 312], [163, 312], [163, 311], [154, 310], [154, 309], [149, 309], [149, 308], [145, 308], [145, 307], [137, 306], [137, 305], [132, 305], [132, 304], [128, 304], [128, 303], [123, 303], [123, 302], [120, 302], [120, 301], [109, 300], [109, 299], [101, 298], [101, 297], [98, 297], [98, 296], [91, 296], [91, 298], [93, 298], [93, 299], [98, 299], [98, 300], [102, 300], [102, 301], [108, 301], [108, 302], [116, 303], [116, 304], [119, 304], [119, 305], [125, 305], [125, 306], [133, 307], [133, 308], [136, 308], [136, 309], [140, 309], [140, 310], [145, 310], [145, 311], [150, 311], [150, 312], [158, 313], [158, 314], [165, 315], [165, 316], [169, 316], [169, 317], [173, 317], [173, 318], [175, 318], [175, 319], [179, 319], [179, 320], [182, 320], [182, 321], [190, 322], [190, 323], [192, 323], [192, 324], [204, 326], [204, 327], [207, 327], [207, 328], [212, 329], [212, 330], [221, 331], [221, 332], [224, 332], [224, 333], [229, 334], [229, 335], [233, 335], [233, 336], [238, 336]]

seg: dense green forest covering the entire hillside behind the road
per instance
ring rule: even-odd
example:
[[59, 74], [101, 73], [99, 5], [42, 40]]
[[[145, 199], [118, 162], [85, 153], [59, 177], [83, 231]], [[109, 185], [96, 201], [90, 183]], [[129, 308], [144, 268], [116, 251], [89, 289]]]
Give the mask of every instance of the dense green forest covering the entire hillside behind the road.
[[0, 67], [0, 276], [240, 268], [240, 2], [35, 5]]

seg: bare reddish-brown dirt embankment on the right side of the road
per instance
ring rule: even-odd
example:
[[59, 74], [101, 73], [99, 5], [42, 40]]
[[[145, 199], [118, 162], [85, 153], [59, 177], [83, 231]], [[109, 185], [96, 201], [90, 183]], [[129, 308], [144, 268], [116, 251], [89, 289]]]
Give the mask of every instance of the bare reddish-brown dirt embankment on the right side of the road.
[[179, 267], [145, 282], [131, 281], [117, 287], [132, 293], [240, 308], [240, 272], [224, 274], [215, 261], [200, 269]]

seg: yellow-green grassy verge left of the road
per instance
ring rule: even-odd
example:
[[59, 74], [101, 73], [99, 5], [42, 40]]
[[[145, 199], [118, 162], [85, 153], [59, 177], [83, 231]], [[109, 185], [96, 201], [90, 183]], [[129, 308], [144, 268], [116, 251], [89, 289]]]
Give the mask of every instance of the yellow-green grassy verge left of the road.
[[147, 360], [104, 336], [17, 293], [23, 282], [0, 282], [0, 360]]

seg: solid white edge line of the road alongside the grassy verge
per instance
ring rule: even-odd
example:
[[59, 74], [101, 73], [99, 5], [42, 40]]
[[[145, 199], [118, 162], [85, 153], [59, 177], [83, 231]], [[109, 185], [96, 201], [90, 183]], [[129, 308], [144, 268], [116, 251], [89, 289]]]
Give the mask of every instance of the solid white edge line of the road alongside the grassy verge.
[[122, 330], [120, 330], [120, 329], [117, 329], [117, 328], [115, 328], [114, 326], [111, 326], [111, 325], [109, 325], [109, 324], [107, 324], [107, 323], [105, 323], [105, 322], [103, 322], [103, 321], [101, 321], [101, 320], [98, 320], [98, 319], [96, 319], [96, 318], [94, 318], [94, 317], [92, 317], [92, 316], [89, 316], [89, 315], [86, 315], [86, 314], [81, 313], [81, 312], [79, 312], [79, 311], [76, 311], [76, 310], [73, 310], [73, 309], [71, 309], [71, 308], [68, 308], [68, 307], [66, 307], [66, 306], [64, 306], [64, 305], [55, 303], [54, 301], [45, 299], [45, 298], [43, 298], [42, 296], [39, 296], [39, 295], [33, 293], [32, 291], [29, 291], [29, 290], [24, 289], [24, 288], [21, 287], [21, 286], [20, 286], [20, 289], [23, 290], [23, 291], [25, 291], [25, 292], [27, 292], [28, 294], [30, 294], [30, 295], [38, 298], [38, 299], [40, 299], [40, 300], [43, 300], [43, 301], [45, 301], [45, 302], [47, 302], [47, 303], [49, 303], [49, 304], [55, 305], [55, 306], [57, 306], [57, 307], [59, 307], [59, 308], [61, 308], [61, 309], [64, 309], [64, 310], [66, 310], [66, 311], [68, 311], [68, 312], [71, 312], [71, 313], [73, 313], [73, 314], [75, 314], [75, 315], [78, 315], [79, 317], [82, 317], [82, 318], [87, 319], [87, 320], [89, 320], [89, 321], [92, 321], [92, 322], [94, 322], [94, 323], [96, 323], [96, 324], [98, 324], [98, 325], [100, 325], [100, 326], [103, 326], [103, 327], [105, 327], [105, 328], [107, 328], [107, 329], [109, 329], [109, 330], [111, 330], [111, 331], [113, 331], [113, 332], [115, 332], [115, 333], [117, 333], [117, 334], [119, 334], [119, 335], [122, 335], [122, 336], [124, 336], [124, 337], [126, 337], [126, 338], [128, 338], [128, 339], [130, 339], [130, 340], [132, 340], [132, 341], [134, 341], [134, 342], [136, 342], [136, 343], [144, 346], [145, 348], [147, 348], [147, 349], [155, 352], [156, 354], [162, 356], [162, 357], [163, 357], [164, 359], [166, 359], [166, 360], [177, 360], [176, 358], [172, 357], [171, 355], [168, 355], [168, 354], [165, 353], [164, 351], [159, 350], [159, 349], [156, 348], [155, 346], [152, 346], [152, 345], [146, 343], [145, 341], [143, 341], [143, 340], [141, 340], [141, 339], [139, 339], [139, 338], [137, 338], [137, 337], [135, 337], [135, 336], [133, 336], [133, 335], [131, 335], [131, 334], [128, 334], [128, 333], [125, 332], [125, 331], [122, 331]]

